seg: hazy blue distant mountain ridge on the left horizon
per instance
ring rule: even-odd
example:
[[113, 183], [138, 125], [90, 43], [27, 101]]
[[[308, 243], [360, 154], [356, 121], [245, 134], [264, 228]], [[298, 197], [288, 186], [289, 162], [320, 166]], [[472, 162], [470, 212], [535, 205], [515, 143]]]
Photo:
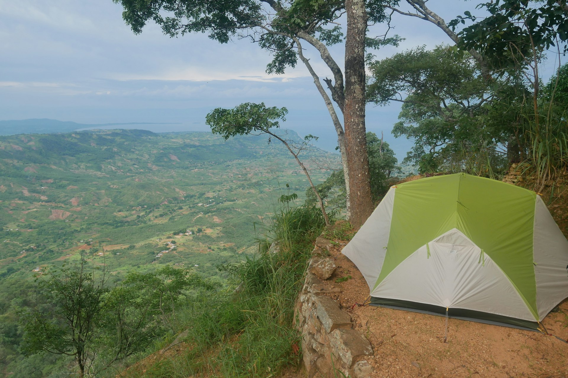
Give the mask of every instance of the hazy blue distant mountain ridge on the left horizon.
[[30, 118], [29, 120], [0, 121], [0, 135], [15, 134], [44, 134], [44, 133], [68, 133], [78, 129], [93, 128], [96, 126], [120, 126], [120, 125], [157, 125], [177, 124], [177, 122], [126, 122], [110, 124], [79, 124], [72, 121], [51, 120], [49, 118]]

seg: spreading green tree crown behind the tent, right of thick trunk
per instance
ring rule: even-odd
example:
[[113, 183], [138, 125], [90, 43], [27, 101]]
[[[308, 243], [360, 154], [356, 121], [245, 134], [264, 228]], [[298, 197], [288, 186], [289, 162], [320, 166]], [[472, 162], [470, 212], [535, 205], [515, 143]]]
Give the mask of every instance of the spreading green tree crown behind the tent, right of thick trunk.
[[507, 141], [508, 125], [484, 122], [494, 95], [469, 54], [446, 45], [420, 47], [374, 62], [371, 72], [370, 100], [403, 103], [393, 134], [414, 139], [404, 162], [419, 165], [420, 173], [436, 172], [452, 160], [465, 168], [470, 156], [494, 157], [495, 145]]

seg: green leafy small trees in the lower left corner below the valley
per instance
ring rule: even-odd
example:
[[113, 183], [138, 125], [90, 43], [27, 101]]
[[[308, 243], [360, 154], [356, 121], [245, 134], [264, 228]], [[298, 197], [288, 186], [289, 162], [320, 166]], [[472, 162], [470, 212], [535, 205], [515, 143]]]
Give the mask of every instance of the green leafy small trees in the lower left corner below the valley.
[[92, 266], [85, 258], [39, 277], [40, 290], [51, 298], [41, 308], [22, 311], [26, 355], [73, 356], [80, 376], [100, 372], [175, 330], [176, 308], [187, 299], [186, 290], [214, 288], [171, 266], [131, 273], [114, 288], [108, 278], [105, 266]]

